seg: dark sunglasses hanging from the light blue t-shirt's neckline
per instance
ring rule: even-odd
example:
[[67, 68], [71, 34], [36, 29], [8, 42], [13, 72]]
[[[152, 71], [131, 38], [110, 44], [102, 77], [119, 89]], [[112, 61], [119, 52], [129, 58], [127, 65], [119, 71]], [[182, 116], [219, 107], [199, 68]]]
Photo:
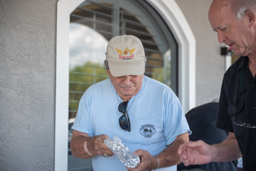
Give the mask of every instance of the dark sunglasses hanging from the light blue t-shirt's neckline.
[[124, 131], [130, 132], [131, 131], [130, 119], [126, 110], [128, 102], [129, 102], [128, 100], [121, 102], [118, 106], [118, 111], [123, 113], [123, 115], [119, 118], [119, 125], [121, 129], [123, 129]]

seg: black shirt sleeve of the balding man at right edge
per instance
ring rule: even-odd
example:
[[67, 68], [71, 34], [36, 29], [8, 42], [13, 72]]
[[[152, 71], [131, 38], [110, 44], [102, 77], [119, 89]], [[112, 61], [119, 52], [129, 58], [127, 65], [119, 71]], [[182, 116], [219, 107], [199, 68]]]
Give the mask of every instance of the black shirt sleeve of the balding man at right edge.
[[217, 118], [216, 118], [216, 127], [233, 133], [232, 120], [228, 115], [228, 101], [227, 101], [228, 94], [226, 89], [227, 89], [227, 80], [226, 80], [226, 74], [225, 74], [222, 81], [221, 95], [220, 95]]

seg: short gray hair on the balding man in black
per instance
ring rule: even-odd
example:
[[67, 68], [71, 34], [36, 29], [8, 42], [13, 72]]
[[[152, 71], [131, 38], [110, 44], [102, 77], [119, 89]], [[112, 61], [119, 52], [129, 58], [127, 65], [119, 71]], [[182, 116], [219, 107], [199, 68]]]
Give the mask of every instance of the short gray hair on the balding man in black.
[[234, 14], [237, 14], [238, 19], [241, 19], [249, 10], [256, 13], [256, 0], [233, 0], [230, 3], [231, 8], [233, 9]]

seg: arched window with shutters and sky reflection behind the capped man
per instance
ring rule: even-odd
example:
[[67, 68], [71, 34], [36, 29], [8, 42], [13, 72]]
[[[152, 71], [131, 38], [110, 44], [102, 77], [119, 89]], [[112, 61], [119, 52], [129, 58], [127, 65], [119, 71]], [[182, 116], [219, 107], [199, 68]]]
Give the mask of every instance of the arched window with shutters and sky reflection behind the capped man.
[[[144, 1], [85, 1], [70, 14], [70, 122], [83, 93], [108, 78], [103, 65], [106, 46], [112, 37], [123, 34], [142, 41], [147, 58], [144, 75], [165, 83], [177, 94], [177, 43], [159, 14]], [[71, 135], [72, 130], [69, 138]], [[75, 160], [70, 158], [71, 169], [70, 160]]]

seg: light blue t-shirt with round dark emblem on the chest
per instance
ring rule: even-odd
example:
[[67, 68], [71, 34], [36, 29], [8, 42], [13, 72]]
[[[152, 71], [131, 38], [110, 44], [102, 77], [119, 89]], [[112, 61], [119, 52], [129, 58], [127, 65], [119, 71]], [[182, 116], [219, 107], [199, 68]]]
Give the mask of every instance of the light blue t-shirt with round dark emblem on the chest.
[[[94, 84], [79, 102], [72, 129], [91, 137], [105, 134], [113, 138], [117, 135], [131, 151], [143, 149], [152, 156], [161, 153], [178, 135], [191, 134], [178, 97], [159, 81], [144, 76], [140, 91], [129, 101], [131, 132], [119, 126], [122, 113], [118, 106], [121, 102], [110, 79]], [[127, 170], [115, 155], [109, 158], [96, 155], [92, 161], [94, 171]], [[158, 170], [176, 170], [176, 165]]]

